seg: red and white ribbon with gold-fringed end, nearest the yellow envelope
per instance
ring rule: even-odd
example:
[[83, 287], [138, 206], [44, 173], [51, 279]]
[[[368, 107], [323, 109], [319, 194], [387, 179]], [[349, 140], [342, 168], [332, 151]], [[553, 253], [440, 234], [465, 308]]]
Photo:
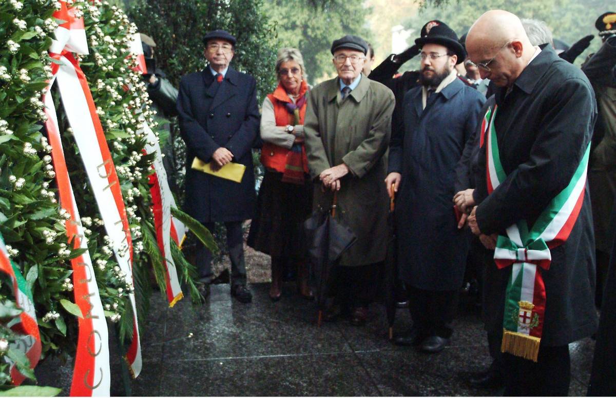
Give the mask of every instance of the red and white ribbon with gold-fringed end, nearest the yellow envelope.
[[144, 133], [147, 137], [147, 144], [145, 145], [145, 151], [148, 154], [155, 154], [154, 161], [152, 163], [152, 169], [154, 173], [150, 175], [150, 193], [152, 193], [152, 202], [154, 210], [154, 225], [156, 228], [156, 241], [158, 247], [164, 258], [164, 265], [166, 268], [166, 282], [167, 282], [167, 300], [169, 301], [169, 307], [174, 306], [178, 300], [184, 295], [182, 294], [182, 288], [177, 278], [176, 265], [171, 256], [171, 239], [174, 224], [177, 225], [176, 243], [177, 241], [177, 229], [185, 229], [184, 225], [179, 220], [174, 220], [171, 217], [171, 208], [176, 207], [176, 201], [169, 189], [169, 183], [167, 181], [167, 173], [164, 170], [163, 156], [161, 154], [160, 145], [158, 145], [158, 138], [150, 129], [147, 122], [144, 121]]

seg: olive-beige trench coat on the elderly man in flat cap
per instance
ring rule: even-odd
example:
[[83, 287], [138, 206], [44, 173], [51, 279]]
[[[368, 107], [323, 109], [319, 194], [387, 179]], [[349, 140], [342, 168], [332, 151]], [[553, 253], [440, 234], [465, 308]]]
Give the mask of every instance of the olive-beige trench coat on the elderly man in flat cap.
[[331, 191], [321, 190], [318, 175], [344, 162], [351, 172], [341, 178], [336, 219], [352, 229], [357, 242], [342, 254], [340, 265], [360, 266], [383, 261], [387, 250], [386, 164], [394, 94], [362, 75], [343, 101], [339, 79], [310, 91], [304, 133], [310, 175], [314, 178], [314, 209], [329, 209]]

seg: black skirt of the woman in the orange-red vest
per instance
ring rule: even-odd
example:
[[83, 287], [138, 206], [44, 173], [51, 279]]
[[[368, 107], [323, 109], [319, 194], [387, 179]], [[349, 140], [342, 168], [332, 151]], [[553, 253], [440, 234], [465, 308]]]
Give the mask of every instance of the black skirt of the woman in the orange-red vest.
[[257, 210], [250, 225], [248, 245], [273, 257], [306, 257], [304, 221], [312, 210], [312, 183], [304, 175], [303, 185], [282, 181], [282, 173], [265, 171]]

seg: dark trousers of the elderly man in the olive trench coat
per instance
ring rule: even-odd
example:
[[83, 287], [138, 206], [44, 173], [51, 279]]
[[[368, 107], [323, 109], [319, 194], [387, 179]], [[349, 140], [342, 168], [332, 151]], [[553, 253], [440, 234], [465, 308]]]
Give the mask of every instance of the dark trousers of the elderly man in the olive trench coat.
[[374, 300], [375, 278], [382, 264], [334, 266], [328, 296], [341, 306], [367, 307]]

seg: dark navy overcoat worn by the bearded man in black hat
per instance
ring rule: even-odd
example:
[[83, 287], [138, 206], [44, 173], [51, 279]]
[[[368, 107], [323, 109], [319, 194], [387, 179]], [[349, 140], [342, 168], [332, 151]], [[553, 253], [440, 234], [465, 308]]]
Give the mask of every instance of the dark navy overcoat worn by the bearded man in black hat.
[[421, 91], [405, 95], [403, 130], [392, 133], [389, 146], [388, 172], [402, 174], [395, 205], [398, 269], [400, 279], [418, 289], [457, 290], [469, 236], [458, 229], [453, 210], [456, 164], [485, 97], [455, 79], [422, 109]]

